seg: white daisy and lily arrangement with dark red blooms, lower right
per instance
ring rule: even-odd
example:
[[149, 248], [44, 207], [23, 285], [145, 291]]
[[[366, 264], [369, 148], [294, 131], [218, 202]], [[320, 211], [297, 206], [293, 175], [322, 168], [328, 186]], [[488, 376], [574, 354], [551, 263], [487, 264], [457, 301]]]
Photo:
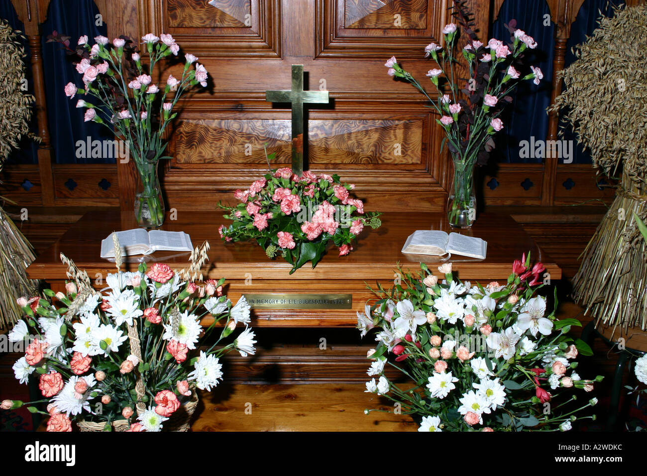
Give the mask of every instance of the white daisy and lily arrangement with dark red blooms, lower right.
[[[377, 332], [367, 392], [419, 416], [419, 431], [566, 431], [578, 411], [597, 403], [571, 409], [575, 389], [592, 391], [602, 377], [577, 374], [578, 353], [591, 349], [567, 335], [579, 321], [547, 313], [537, 294], [542, 264], [531, 267], [524, 256], [507, 284], [485, 288], [455, 279], [450, 263], [439, 267], [442, 282], [421, 268], [417, 276], [402, 273], [401, 285], [380, 288], [381, 299], [357, 314], [362, 337]], [[404, 374], [406, 387], [384, 374], [387, 363]]]

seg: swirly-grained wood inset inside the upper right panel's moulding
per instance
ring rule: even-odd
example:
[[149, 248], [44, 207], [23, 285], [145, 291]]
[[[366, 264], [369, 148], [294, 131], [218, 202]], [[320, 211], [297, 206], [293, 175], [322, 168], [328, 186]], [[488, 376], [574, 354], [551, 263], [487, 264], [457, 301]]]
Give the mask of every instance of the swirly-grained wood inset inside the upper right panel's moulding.
[[345, 0], [344, 27], [417, 29], [427, 27], [427, 0]]

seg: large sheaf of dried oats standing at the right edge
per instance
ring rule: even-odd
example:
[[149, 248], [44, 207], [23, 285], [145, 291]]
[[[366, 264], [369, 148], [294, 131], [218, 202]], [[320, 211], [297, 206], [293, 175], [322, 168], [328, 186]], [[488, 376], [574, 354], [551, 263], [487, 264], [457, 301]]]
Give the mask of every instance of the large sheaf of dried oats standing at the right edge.
[[598, 23], [576, 47], [578, 60], [560, 73], [564, 92], [549, 109], [568, 108], [564, 117], [593, 166], [622, 173], [617, 196], [582, 253], [573, 297], [597, 324], [626, 334], [630, 327], [647, 330], [647, 247], [631, 213], [647, 218], [647, 6], [615, 8], [613, 18]]

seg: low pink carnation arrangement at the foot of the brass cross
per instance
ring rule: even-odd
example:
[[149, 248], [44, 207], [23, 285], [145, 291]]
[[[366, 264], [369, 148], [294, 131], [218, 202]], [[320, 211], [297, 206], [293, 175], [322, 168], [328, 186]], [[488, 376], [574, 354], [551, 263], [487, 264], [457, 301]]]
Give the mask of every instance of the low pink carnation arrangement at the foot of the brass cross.
[[[270, 154], [269, 161], [274, 158]], [[379, 212], [364, 212], [364, 203], [352, 198], [355, 185], [341, 183], [340, 177], [279, 168], [252, 183], [248, 190], [236, 190], [241, 203], [224, 207], [225, 218], [233, 223], [218, 229], [226, 242], [256, 239], [269, 258], [278, 255], [292, 265], [290, 274], [308, 261], [313, 268], [329, 241], [339, 248], [339, 256], [353, 251], [353, 241], [364, 226], [380, 227]]]

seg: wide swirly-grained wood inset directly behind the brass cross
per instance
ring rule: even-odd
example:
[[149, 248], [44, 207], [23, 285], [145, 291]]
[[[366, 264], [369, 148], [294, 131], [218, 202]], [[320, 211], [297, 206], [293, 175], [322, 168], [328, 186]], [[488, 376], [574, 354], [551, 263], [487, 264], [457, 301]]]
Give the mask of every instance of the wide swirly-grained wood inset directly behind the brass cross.
[[[421, 164], [422, 120], [339, 119], [309, 121], [309, 163]], [[287, 119], [184, 120], [175, 136], [175, 161], [183, 163], [265, 163], [276, 152], [288, 163], [291, 122]]]

